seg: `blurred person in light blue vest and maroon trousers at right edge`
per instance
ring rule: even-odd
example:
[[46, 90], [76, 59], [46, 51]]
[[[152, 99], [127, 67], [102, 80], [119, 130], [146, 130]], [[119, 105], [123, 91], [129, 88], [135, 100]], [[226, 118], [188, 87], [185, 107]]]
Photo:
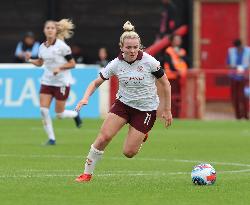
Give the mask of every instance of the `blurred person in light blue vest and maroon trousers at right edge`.
[[232, 70], [230, 74], [231, 97], [237, 119], [248, 119], [248, 98], [244, 95], [247, 84], [246, 72], [250, 67], [250, 48], [243, 46], [241, 40], [236, 39], [233, 47], [228, 49], [227, 64]]

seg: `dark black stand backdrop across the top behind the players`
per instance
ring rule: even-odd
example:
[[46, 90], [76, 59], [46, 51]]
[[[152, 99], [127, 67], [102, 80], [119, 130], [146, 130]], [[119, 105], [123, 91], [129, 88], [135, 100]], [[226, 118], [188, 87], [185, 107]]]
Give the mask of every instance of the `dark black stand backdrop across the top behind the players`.
[[[178, 24], [188, 23], [191, 1], [176, 0]], [[13, 62], [16, 43], [26, 31], [44, 40], [43, 25], [47, 19], [71, 18], [76, 25], [74, 38], [95, 61], [98, 48], [107, 47], [111, 58], [119, 52], [119, 36], [124, 21], [130, 20], [141, 34], [145, 47], [155, 40], [160, 24], [160, 0], [24, 0], [1, 1], [0, 62]]]

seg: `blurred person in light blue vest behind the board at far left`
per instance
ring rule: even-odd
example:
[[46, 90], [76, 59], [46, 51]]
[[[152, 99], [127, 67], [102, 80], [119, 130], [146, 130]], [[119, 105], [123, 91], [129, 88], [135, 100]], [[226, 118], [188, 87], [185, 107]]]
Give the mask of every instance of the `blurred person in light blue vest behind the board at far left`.
[[26, 53], [30, 53], [31, 58], [38, 57], [40, 43], [35, 40], [33, 32], [25, 33], [23, 40], [19, 41], [15, 51], [15, 62], [25, 63]]

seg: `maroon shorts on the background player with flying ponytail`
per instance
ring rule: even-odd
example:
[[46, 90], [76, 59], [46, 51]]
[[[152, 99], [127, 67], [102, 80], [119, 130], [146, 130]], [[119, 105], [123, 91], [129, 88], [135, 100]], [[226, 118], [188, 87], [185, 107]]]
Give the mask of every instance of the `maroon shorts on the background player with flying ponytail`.
[[41, 85], [40, 93], [52, 95], [57, 100], [67, 100], [69, 97], [69, 86], [51, 86], [51, 85]]

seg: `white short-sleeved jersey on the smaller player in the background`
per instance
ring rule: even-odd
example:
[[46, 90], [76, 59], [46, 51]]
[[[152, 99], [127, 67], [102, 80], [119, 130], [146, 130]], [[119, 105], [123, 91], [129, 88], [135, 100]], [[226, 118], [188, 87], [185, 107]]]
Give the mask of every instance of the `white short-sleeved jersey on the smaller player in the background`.
[[44, 85], [69, 86], [72, 82], [70, 70], [64, 70], [57, 75], [53, 70], [67, 63], [65, 56], [71, 55], [70, 47], [62, 40], [56, 39], [53, 45], [47, 47], [42, 43], [39, 47], [38, 57], [44, 62], [45, 70], [41, 79]]

